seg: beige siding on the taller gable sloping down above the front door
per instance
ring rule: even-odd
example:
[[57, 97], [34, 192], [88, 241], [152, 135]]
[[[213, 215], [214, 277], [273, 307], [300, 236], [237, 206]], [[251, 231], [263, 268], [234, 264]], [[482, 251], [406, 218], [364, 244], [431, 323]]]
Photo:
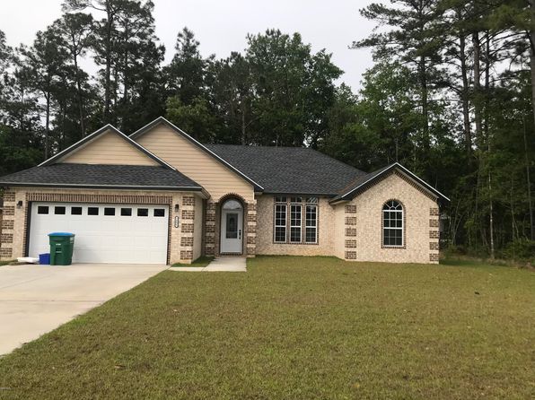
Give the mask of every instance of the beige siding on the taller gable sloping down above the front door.
[[169, 126], [154, 126], [141, 135], [137, 143], [195, 180], [208, 191], [214, 202], [229, 193], [239, 195], [247, 202], [254, 200], [254, 189], [249, 182]]

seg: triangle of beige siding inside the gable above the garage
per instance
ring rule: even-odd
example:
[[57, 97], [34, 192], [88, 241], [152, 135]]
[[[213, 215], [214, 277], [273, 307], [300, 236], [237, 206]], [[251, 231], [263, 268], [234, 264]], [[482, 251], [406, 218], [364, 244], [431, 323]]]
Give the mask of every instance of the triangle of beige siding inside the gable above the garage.
[[108, 131], [59, 162], [75, 164], [159, 165], [117, 134]]

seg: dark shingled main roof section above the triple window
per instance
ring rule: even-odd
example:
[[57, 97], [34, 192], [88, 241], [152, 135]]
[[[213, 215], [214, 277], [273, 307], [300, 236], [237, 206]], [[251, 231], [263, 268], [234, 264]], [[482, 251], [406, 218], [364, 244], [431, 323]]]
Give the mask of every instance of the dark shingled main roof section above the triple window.
[[206, 144], [224, 161], [246, 173], [265, 193], [336, 196], [361, 170], [303, 147]]

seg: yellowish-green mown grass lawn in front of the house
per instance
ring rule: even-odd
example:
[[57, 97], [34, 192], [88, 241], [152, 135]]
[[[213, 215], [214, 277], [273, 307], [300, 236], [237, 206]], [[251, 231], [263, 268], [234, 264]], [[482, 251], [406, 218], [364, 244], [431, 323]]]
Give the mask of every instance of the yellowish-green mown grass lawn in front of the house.
[[257, 257], [166, 271], [0, 361], [0, 398], [535, 398], [535, 274]]

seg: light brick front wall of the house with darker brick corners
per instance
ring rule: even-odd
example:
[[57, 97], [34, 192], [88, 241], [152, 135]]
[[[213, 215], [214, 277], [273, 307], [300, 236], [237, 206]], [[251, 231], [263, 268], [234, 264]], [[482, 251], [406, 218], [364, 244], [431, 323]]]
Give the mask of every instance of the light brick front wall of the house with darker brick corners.
[[[318, 243], [274, 243], [274, 196], [256, 200], [229, 194], [219, 201], [172, 192], [59, 190], [17, 188], [4, 194], [0, 221], [0, 258], [24, 256], [28, 204], [33, 201], [110, 204], [168, 204], [170, 235], [168, 262], [189, 263], [202, 253], [220, 254], [221, 205], [236, 198], [243, 205], [243, 254], [337, 256], [346, 260], [437, 263], [440, 212], [436, 201], [391, 174], [344, 204], [331, 205], [320, 197]], [[396, 199], [404, 205], [404, 248], [382, 248], [382, 204]], [[16, 204], [22, 201], [22, 207]], [[178, 209], [176, 206], [179, 206]], [[177, 211], [175, 211], [177, 210]], [[174, 218], [179, 217], [179, 228]]]

